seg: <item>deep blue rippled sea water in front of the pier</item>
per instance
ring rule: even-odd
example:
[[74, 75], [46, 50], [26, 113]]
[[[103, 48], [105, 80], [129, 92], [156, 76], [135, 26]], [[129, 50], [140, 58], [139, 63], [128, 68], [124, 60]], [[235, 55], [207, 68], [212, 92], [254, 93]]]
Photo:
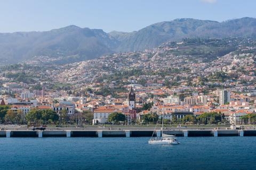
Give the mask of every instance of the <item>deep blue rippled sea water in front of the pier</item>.
[[256, 137], [0, 138], [0, 169], [256, 169]]

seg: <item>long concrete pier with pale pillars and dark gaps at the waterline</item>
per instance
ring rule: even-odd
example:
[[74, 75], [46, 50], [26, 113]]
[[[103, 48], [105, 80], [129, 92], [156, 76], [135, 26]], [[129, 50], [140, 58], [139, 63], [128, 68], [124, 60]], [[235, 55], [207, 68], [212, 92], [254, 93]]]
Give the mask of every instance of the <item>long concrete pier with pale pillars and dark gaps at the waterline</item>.
[[[164, 130], [164, 134], [175, 135], [176, 137], [230, 137], [230, 136], [256, 136], [256, 130]], [[161, 131], [147, 129], [113, 129], [113, 130], [6, 130], [0, 131], [0, 137], [161, 137]]]

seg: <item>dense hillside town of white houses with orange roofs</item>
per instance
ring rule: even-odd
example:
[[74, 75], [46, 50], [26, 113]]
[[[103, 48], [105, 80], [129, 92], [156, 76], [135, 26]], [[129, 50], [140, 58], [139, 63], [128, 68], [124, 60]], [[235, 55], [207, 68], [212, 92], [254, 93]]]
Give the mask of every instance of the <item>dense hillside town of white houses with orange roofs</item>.
[[[238, 47], [239, 48], [239, 47]], [[93, 123], [104, 124], [108, 115], [114, 112], [125, 114], [128, 123], [140, 122], [145, 114], [156, 113], [158, 117], [173, 120], [186, 115], [198, 117], [205, 112], [218, 112], [225, 115], [229, 124], [244, 123], [243, 115], [255, 112], [255, 56], [246, 53], [254, 47], [243, 48], [242, 54], [232, 52], [219, 56], [211, 62], [202, 62], [202, 58], [193, 56], [174, 56], [173, 49], [166, 43], [159, 48], [141, 52], [119, 53], [103, 56], [95, 60], [44, 67], [43, 71], [18, 70], [5, 71], [1, 74], [1, 105], [11, 105], [13, 111], [19, 109], [26, 115], [30, 109], [52, 109], [60, 115], [66, 108], [68, 116], [85, 110], [93, 112]], [[35, 63], [27, 63], [35, 64]], [[49, 66], [50, 68], [50, 66]], [[170, 75], [142, 74], [122, 80], [105, 79], [116, 71], [140, 69], [144, 73], [161, 70], [177, 70]], [[34, 74], [34, 83], [14, 82], [4, 77], [8, 73]], [[225, 74], [217, 78], [215, 73]], [[215, 77], [214, 77], [215, 75]], [[212, 79], [203, 80], [202, 78]], [[102, 79], [103, 81], [99, 81]], [[141, 80], [143, 84], [139, 84]], [[166, 86], [177, 82], [177, 86]], [[70, 84], [67, 90], [53, 89], [52, 84]], [[33, 86], [42, 90], [33, 90]], [[97, 95], [101, 88], [118, 89], [123, 86], [126, 92], [115, 92], [112, 95]], [[87, 90], [92, 89], [92, 91]], [[84, 90], [82, 93], [80, 91]], [[87, 90], [87, 91], [86, 91]], [[127, 92], [129, 90], [129, 92]], [[71, 94], [70, 94], [71, 92]], [[77, 93], [78, 92], [78, 93]], [[9, 95], [4, 95], [9, 94]], [[14, 96], [13, 96], [14, 95]], [[58, 102], [55, 102], [58, 101]], [[143, 110], [145, 104], [153, 104]], [[222, 121], [222, 123], [225, 123]]]

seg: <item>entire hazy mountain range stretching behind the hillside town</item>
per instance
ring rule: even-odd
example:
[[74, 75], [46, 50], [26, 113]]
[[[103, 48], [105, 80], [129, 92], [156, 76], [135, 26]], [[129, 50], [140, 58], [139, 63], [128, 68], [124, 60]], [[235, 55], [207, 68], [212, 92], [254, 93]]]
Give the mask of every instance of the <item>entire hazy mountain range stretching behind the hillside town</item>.
[[[45, 32], [0, 33], [0, 64], [17, 63], [38, 56], [62, 58], [54, 64], [90, 60], [102, 55], [151, 49], [182, 38], [255, 37], [256, 19], [217, 22], [176, 19], [149, 25], [139, 31], [109, 33], [70, 25]], [[35, 57], [35, 58], [36, 58]]]

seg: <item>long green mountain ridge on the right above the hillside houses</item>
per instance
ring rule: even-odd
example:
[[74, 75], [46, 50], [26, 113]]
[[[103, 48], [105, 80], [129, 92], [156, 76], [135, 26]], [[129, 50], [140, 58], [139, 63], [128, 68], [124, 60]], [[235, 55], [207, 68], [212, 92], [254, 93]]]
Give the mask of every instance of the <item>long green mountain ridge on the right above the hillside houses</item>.
[[121, 41], [116, 52], [128, 52], [154, 48], [166, 41], [182, 38], [211, 38], [230, 36], [255, 36], [256, 19], [242, 18], [226, 22], [195, 19], [176, 19], [159, 22], [134, 32], [109, 32], [109, 35]]

